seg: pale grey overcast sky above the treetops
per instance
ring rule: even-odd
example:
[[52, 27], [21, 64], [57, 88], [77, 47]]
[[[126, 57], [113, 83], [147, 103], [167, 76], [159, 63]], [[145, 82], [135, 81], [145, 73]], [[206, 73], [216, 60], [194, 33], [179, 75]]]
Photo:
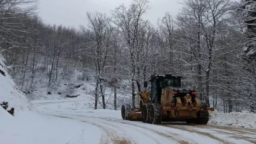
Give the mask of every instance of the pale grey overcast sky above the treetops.
[[[39, 15], [45, 23], [65, 25], [78, 28], [87, 25], [86, 12], [99, 11], [111, 16], [111, 9], [124, 3], [128, 6], [132, 0], [40, 0]], [[154, 25], [157, 18], [166, 11], [176, 15], [181, 8], [182, 0], [150, 0], [150, 9], [144, 16]]]

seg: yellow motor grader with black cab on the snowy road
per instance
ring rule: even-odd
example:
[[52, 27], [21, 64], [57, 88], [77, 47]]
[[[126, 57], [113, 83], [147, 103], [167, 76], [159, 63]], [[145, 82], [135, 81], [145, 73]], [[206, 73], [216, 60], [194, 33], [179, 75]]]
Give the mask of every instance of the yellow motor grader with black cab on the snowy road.
[[[200, 102], [195, 89], [181, 87], [181, 76], [154, 75], [151, 76], [150, 81], [150, 92], [141, 92], [137, 81], [140, 107], [131, 108], [130, 104], [122, 105], [123, 119], [150, 124], [169, 121], [208, 123], [208, 111], [214, 111], [214, 108]], [[147, 87], [147, 81], [144, 82], [144, 87]]]

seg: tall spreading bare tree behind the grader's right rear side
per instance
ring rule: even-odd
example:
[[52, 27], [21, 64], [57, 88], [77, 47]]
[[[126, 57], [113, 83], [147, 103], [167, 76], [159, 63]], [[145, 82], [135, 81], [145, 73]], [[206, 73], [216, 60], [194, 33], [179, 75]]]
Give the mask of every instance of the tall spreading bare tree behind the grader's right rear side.
[[210, 105], [210, 81], [212, 80], [210, 71], [217, 57], [222, 56], [221, 50], [225, 49], [225, 45], [217, 45], [216, 41], [221, 40], [219, 33], [225, 31], [224, 23], [230, 11], [229, 3], [228, 0], [188, 0], [178, 17], [181, 25], [180, 32], [185, 34], [183, 36], [186, 39], [184, 47], [189, 51], [184, 53], [192, 58], [188, 63], [197, 64], [198, 88], [203, 88], [204, 97], [201, 99], [208, 106]]

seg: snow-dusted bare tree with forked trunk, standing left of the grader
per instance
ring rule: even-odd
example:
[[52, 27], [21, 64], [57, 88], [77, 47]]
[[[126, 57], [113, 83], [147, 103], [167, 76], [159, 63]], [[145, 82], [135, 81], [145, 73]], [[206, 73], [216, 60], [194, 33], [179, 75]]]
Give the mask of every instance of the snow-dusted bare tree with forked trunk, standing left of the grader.
[[94, 37], [92, 39], [91, 49], [92, 57], [94, 57], [95, 63], [95, 109], [97, 109], [97, 101], [99, 95], [97, 95], [98, 87], [100, 88], [101, 98], [102, 98], [102, 107], [106, 109], [105, 94], [104, 94], [104, 72], [107, 66], [106, 60], [109, 52], [109, 42], [110, 39], [113, 39], [112, 28], [111, 28], [111, 19], [102, 13], [87, 13], [87, 18], [89, 21], [89, 28], [94, 32]]

